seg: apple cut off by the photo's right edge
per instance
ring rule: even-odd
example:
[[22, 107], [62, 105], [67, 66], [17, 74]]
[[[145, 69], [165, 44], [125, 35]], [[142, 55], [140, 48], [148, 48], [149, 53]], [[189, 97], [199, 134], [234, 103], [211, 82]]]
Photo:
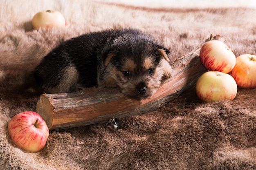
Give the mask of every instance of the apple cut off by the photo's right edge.
[[236, 80], [238, 86], [256, 88], [256, 55], [238, 56], [236, 65], [229, 74]]

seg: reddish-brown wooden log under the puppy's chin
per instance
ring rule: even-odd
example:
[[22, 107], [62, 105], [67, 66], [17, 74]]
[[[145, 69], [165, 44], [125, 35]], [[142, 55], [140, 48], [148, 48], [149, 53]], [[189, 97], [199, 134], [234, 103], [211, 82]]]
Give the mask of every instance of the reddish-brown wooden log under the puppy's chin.
[[[211, 35], [205, 42], [210, 40], [224, 42], [220, 35]], [[147, 99], [130, 99], [113, 88], [87, 88], [74, 93], [43, 94], [37, 102], [36, 111], [52, 130], [86, 126], [113, 117], [156, 110], [191, 88], [198, 77], [206, 72], [198, 56], [200, 48], [175, 60], [171, 66], [176, 75], [163, 82], [157, 92]]]

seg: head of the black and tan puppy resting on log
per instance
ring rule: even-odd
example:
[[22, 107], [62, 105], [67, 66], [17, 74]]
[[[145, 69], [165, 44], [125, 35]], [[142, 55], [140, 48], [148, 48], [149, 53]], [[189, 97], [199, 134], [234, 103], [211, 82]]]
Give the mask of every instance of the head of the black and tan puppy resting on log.
[[122, 93], [136, 99], [149, 97], [162, 77], [169, 77], [165, 75], [171, 71], [168, 53], [147, 35], [128, 33], [105, 50], [101, 86], [120, 87]]

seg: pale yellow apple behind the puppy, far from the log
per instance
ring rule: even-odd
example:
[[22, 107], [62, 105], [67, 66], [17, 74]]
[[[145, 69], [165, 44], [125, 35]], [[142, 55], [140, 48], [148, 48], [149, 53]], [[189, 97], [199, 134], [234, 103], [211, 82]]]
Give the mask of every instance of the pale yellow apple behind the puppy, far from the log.
[[65, 18], [58, 11], [40, 11], [32, 18], [32, 26], [34, 29], [49, 29], [53, 27], [61, 28], [64, 27], [65, 24]]

